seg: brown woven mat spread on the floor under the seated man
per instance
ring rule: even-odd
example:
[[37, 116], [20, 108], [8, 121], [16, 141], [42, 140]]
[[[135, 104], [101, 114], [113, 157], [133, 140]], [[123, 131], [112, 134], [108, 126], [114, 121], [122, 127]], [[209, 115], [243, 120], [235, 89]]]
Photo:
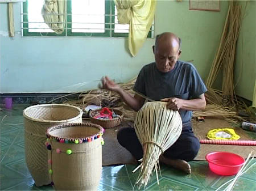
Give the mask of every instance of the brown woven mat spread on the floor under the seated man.
[[[131, 124], [130, 124], [131, 125]], [[240, 140], [251, 140], [241, 128], [233, 128], [225, 120], [205, 119], [205, 122], [193, 122], [193, 131], [197, 138], [205, 139], [211, 129], [232, 128], [240, 135]], [[115, 129], [106, 129], [103, 138], [105, 145], [102, 147], [102, 165], [114, 164], [135, 164], [133, 156], [119, 145], [117, 141], [117, 131]], [[205, 160], [205, 155], [213, 151], [233, 152], [246, 158], [253, 151], [256, 155], [255, 146], [235, 146], [235, 145], [206, 145], [201, 144], [199, 154], [195, 160]]]

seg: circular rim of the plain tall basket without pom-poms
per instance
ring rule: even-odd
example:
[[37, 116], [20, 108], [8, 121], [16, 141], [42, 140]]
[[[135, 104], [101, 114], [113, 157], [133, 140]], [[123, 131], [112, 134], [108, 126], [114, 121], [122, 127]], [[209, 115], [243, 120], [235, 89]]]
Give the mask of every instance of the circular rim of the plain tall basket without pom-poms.
[[[30, 117], [27, 115], [27, 111], [32, 109], [32, 108], [43, 108], [43, 107], [69, 107], [69, 108], [73, 108], [76, 109], [79, 114], [76, 117], [72, 117], [69, 118], [68, 120], [59, 120], [59, 121], [54, 121], [54, 120], [42, 120], [39, 118], [34, 118], [34, 117]], [[73, 105], [68, 105], [68, 104], [38, 104], [38, 105], [32, 105], [30, 107], [27, 107], [26, 109], [23, 110], [23, 117], [27, 118], [28, 120], [34, 121], [34, 122], [40, 122], [43, 124], [59, 124], [59, 123], [63, 123], [63, 122], [69, 122], [69, 121], [73, 121], [76, 120], [78, 118], [82, 117], [82, 109], [80, 109], [79, 107], [73, 106]]]

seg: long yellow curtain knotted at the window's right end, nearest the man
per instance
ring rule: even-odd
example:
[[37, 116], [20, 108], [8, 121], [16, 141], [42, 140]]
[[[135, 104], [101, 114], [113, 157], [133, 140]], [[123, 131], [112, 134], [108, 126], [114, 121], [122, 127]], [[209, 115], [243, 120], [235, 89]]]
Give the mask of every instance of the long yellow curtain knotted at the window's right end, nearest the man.
[[129, 49], [135, 56], [152, 26], [156, 0], [114, 0], [119, 24], [129, 24]]

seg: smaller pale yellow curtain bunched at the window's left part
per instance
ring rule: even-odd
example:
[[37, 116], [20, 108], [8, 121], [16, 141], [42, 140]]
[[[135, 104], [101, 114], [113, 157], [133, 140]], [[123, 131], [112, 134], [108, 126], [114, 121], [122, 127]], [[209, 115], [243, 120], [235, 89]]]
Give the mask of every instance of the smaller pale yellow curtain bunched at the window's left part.
[[[64, 31], [66, 0], [44, 0], [41, 14], [44, 22], [58, 35]], [[44, 15], [44, 14], [63, 14], [63, 15]], [[55, 23], [51, 23], [55, 22]], [[57, 23], [61, 22], [61, 23]]]

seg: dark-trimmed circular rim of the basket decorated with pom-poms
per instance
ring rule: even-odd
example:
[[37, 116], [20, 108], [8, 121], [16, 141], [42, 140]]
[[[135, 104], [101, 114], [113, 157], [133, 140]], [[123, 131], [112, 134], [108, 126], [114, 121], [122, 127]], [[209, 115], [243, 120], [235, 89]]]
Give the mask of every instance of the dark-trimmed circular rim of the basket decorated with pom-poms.
[[[97, 128], [99, 131], [96, 134], [93, 135], [89, 135], [87, 137], [80, 137], [80, 138], [67, 138], [67, 137], [57, 137], [57, 136], [53, 136], [51, 135], [51, 131], [56, 130], [56, 129], [62, 129], [62, 128], [71, 128], [74, 126], [84, 126], [84, 127], [88, 127], [90, 126], [91, 128]], [[69, 124], [60, 124], [60, 125], [56, 125], [56, 126], [52, 126], [51, 128], [48, 128], [46, 131], [46, 137], [47, 138], [53, 138], [53, 139], [67, 139], [69, 141], [75, 141], [75, 139], [87, 139], [90, 137], [95, 137], [97, 135], [102, 135], [104, 133], [104, 128], [102, 128], [102, 126], [97, 125], [97, 124], [92, 124], [89, 122], [80, 122], [80, 123], [69, 123]]]

